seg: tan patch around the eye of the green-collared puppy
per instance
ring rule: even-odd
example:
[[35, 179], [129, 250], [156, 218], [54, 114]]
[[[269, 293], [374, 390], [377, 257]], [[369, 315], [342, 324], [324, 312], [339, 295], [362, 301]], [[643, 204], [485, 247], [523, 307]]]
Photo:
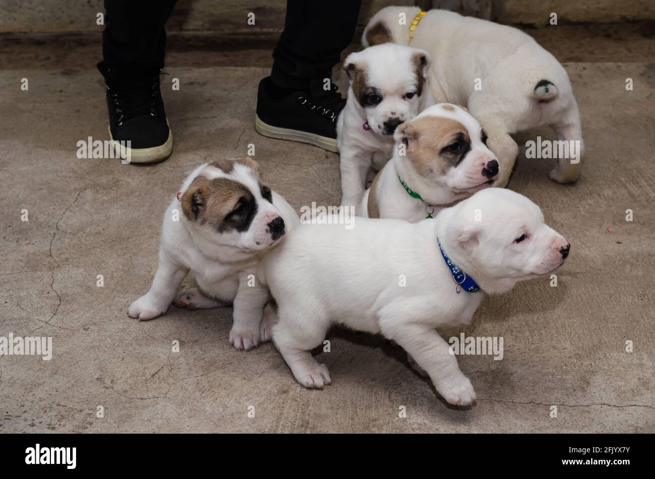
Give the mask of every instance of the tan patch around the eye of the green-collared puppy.
[[[434, 171], [443, 175], [447, 169], [457, 166], [470, 149], [468, 130], [451, 118], [422, 116], [398, 128], [405, 137], [403, 141], [407, 141], [407, 157], [421, 176]], [[454, 141], [461, 143], [459, 153], [442, 152]]]

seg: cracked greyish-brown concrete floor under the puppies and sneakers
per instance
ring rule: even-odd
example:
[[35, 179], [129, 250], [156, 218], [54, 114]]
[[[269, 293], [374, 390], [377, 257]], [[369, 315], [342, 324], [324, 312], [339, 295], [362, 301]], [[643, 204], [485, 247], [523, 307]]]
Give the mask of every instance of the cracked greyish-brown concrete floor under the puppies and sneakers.
[[[503, 336], [504, 359], [459, 357], [478, 396], [470, 410], [444, 404], [382, 338], [331, 332], [319, 359], [333, 384], [309, 391], [271, 344], [229, 346], [230, 308], [126, 315], [157, 268], [165, 205], [197, 164], [254, 143], [265, 179], [292, 205], [338, 204], [336, 154], [254, 131], [269, 50], [172, 48], [162, 81], [181, 81], [164, 91], [174, 153], [135, 166], [75, 155], [77, 141], [107, 136], [98, 43], [3, 42], [0, 336], [52, 336], [54, 355], [0, 357], [0, 432], [654, 432], [654, 42], [652, 28], [616, 28], [623, 37], [583, 27], [546, 41], [571, 76], [586, 164], [561, 186], [547, 161], [521, 153], [510, 187], [542, 207], [571, 257], [558, 287], [521, 283], [477, 312], [466, 334]], [[517, 141], [536, 135], [552, 138]]]

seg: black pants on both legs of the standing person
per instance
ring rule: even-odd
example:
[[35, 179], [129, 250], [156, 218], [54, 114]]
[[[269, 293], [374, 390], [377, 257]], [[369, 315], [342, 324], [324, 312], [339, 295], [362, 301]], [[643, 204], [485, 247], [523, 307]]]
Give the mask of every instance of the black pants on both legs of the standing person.
[[[102, 54], [106, 68], [141, 73], [164, 67], [164, 25], [176, 0], [105, 0]], [[284, 88], [307, 88], [331, 76], [352, 41], [362, 0], [287, 0], [284, 31], [271, 77]], [[245, 20], [244, 20], [245, 21]]]

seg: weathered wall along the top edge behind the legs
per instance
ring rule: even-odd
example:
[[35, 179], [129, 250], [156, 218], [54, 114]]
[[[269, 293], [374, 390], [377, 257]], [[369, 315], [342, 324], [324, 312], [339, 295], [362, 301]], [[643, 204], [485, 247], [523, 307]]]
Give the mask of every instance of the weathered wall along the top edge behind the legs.
[[[137, 0], [135, 0], [137, 1]], [[152, 0], [157, 1], [157, 0]], [[329, 0], [309, 0], [329, 1]], [[364, 0], [362, 26], [386, 5], [445, 8], [466, 15], [493, 18], [505, 24], [544, 24], [551, 12], [559, 22], [623, 22], [655, 18], [654, 0]], [[212, 31], [219, 35], [252, 34], [246, 24], [255, 13], [259, 34], [278, 33], [284, 24], [286, 0], [179, 0], [169, 31]], [[100, 31], [96, 15], [102, 0], [0, 0], [0, 32]]]

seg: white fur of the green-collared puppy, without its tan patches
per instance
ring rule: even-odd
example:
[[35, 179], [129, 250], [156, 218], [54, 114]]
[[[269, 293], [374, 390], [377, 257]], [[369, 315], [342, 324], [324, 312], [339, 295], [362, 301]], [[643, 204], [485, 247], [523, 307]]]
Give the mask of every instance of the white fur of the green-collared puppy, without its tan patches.
[[[468, 131], [471, 139], [471, 149], [458, 166], [449, 168], [444, 175], [434, 171], [432, 175], [423, 177], [414, 169], [407, 155], [402, 156], [399, 145], [402, 134], [396, 132], [396, 147], [393, 156], [382, 171], [376, 185], [376, 200], [380, 218], [397, 218], [410, 222], [418, 222], [426, 218], [427, 213], [435, 217], [441, 208], [457, 200], [466, 198], [486, 188], [485, 182], [489, 178], [482, 175], [482, 170], [491, 160], [497, 160], [496, 155], [489, 150], [481, 140], [481, 126], [473, 116], [457, 105], [450, 105], [454, 111], [443, 109], [447, 103], [439, 103], [428, 107], [413, 121], [424, 116], [438, 116], [452, 118], [460, 122]], [[411, 122], [410, 122], [411, 123]], [[437, 156], [438, 151], [434, 152]], [[413, 198], [407, 194], [398, 177], [411, 189], [421, 195], [424, 201]], [[360, 215], [368, 217], [368, 197], [370, 190], [366, 190], [360, 205]]]

